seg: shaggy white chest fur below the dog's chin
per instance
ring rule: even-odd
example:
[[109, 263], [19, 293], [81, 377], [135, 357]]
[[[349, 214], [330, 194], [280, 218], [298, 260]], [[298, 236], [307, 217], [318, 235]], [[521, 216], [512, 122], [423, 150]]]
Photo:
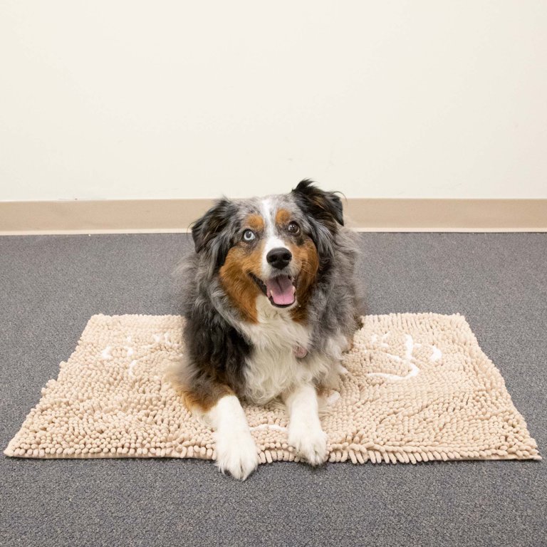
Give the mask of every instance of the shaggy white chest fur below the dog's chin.
[[295, 350], [308, 348], [310, 332], [294, 322], [287, 310], [273, 308], [266, 298], [258, 298], [256, 308], [258, 323], [242, 325], [253, 345], [246, 363], [246, 395], [264, 404], [310, 382], [323, 372], [325, 365], [316, 359], [297, 358]]

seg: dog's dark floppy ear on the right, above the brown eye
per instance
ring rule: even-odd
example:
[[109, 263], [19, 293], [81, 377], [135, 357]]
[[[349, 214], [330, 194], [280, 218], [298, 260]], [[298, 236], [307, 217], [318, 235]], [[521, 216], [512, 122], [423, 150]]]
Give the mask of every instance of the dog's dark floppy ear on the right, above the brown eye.
[[344, 225], [342, 200], [334, 192], [323, 192], [313, 185], [313, 181], [305, 179], [291, 192], [298, 207], [304, 212], [336, 231], [336, 223]]

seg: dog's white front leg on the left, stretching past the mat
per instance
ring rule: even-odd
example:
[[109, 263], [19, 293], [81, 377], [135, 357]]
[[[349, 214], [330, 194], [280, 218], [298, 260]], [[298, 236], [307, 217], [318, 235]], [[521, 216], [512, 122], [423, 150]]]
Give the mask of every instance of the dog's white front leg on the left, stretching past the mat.
[[258, 466], [259, 455], [239, 399], [235, 395], [220, 397], [206, 418], [214, 428], [217, 466], [244, 481]]

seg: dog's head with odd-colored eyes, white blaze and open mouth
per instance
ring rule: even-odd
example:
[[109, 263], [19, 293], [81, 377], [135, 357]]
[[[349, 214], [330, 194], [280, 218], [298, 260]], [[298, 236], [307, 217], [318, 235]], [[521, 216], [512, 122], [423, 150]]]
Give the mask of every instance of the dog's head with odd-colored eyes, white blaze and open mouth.
[[290, 194], [222, 199], [194, 224], [192, 236], [209, 273], [253, 318], [256, 298], [276, 308], [306, 301], [318, 273], [332, 264], [341, 225], [340, 198], [303, 180]]

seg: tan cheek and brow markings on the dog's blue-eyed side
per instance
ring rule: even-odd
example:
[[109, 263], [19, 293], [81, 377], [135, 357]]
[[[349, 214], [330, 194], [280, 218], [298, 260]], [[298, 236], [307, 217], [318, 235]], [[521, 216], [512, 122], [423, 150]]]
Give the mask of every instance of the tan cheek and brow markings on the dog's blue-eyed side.
[[[264, 220], [259, 215], [250, 215], [245, 226], [256, 232], [264, 229]], [[251, 226], [255, 226], [252, 228]], [[264, 244], [259, 242], [253, 247], [239, 243], [232, 247], [219, 271], [220, 281], [231, 303], [241, 312], [244, 321], [256, 323], [256, 298], [261, 291], [249, 273], [261, 278], [261, 261]]]

